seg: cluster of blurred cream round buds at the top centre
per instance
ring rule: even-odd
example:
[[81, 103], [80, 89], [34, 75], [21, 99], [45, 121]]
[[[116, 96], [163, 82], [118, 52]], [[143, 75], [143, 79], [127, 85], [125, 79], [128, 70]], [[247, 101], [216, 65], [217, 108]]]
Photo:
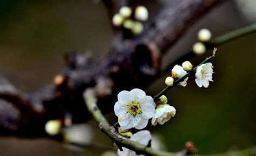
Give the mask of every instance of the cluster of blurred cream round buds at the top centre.
[[132, 9], [129, 6], [122, 6], [119, 12], [112, 18], [114, 26], [123, 26], [134, 34], [139, 34], [143, 31], [143, 21], [149, 18], [149, 12], [145, 6], [139, 5], [134, 10], [134, 16], [131, 17]]

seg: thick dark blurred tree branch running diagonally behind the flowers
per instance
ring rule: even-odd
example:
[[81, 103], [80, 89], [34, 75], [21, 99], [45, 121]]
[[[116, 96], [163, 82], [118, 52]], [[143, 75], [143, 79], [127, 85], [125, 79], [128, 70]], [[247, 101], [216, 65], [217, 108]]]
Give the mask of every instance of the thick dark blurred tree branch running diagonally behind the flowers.
[[[109, 56], [99, 65], [93, 64], [85, 54], [70, 53], [65, 56], [66, 66], [56, 78], [55, 85], [34, 93], [18, 93], [15, 97], [9, 92], [0, 92], [0, 99], [5, 101], [4, 104], [0, 101], [3, 106], [0, 109], [1, 121], [8, 121], [8, 114], [18, 114], [16, 120], [0, 124], [0, 133], [42, 137], [46, 135], [46, 121], [63, 119], [66, 112], [72, 114], [73, 123], [90, 119], [82, 97], [83, 91], [89, 87], [96, 93], [99, 108], [110, 112], [119, 91], [149, 86], [158, 76], [161, 53], [173, 45], [196, 19], [223, 1], [172, 2], [160, 10], [141, 35], [130, 39], [118, 35]], [[19, 110], [23, 106], [25, 109]], [[4, 113], [6, 110], [9, 113]]]

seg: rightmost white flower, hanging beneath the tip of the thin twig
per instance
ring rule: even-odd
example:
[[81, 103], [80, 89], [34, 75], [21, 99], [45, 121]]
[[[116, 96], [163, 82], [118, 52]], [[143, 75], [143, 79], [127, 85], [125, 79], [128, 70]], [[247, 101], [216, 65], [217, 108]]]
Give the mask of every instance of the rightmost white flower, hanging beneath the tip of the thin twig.
[[196, 83], [199, 87], [204, 86], [207, 88], [209, 86], [209, 82], [212, 80], [212, 63], [205, 63], [197, 67], [196, 72]]

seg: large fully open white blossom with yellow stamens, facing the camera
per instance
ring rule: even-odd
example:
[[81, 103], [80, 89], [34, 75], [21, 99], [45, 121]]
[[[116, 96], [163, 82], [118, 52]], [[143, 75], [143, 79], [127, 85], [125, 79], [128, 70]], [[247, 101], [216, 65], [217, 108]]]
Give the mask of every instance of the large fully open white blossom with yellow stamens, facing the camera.
[[156, 104], [151, 96], [140, 89], [121, 91], [117, 95], [118, 101], [114, 104], [114, 113], [118, 123], [124, 129], [146, 127], [149, 119], [153, 117]]

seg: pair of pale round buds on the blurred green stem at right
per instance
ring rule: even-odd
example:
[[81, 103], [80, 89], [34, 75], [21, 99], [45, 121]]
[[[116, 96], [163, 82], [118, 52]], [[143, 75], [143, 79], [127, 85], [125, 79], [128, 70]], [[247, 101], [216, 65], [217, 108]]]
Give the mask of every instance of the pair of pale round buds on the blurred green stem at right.
[[212, 33], [208, 29], [201, 29], [198, 31], [198, 40], [199, 42], [195, 43], [193, 45], [193, 52], [196, 53], [196, 55], [202, 55], [206, 52], [206, 47], [203, 42], [207, 42], [212, 37]]

